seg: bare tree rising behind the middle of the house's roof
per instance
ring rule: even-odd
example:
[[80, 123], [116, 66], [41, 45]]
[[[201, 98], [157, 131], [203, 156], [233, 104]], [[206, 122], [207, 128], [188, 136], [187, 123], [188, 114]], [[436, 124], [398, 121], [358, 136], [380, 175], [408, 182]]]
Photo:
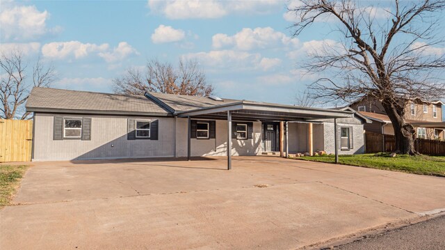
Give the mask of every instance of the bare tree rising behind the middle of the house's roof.
[[143, 95], [146, 91], [209, 96], [213, 86], [208, 84], [197, 61], [179, 60], [174, 68], [158, 60], [147, 62], [145, 72], [129, 68], [122, 77], [113, 79], [115, 93]]

